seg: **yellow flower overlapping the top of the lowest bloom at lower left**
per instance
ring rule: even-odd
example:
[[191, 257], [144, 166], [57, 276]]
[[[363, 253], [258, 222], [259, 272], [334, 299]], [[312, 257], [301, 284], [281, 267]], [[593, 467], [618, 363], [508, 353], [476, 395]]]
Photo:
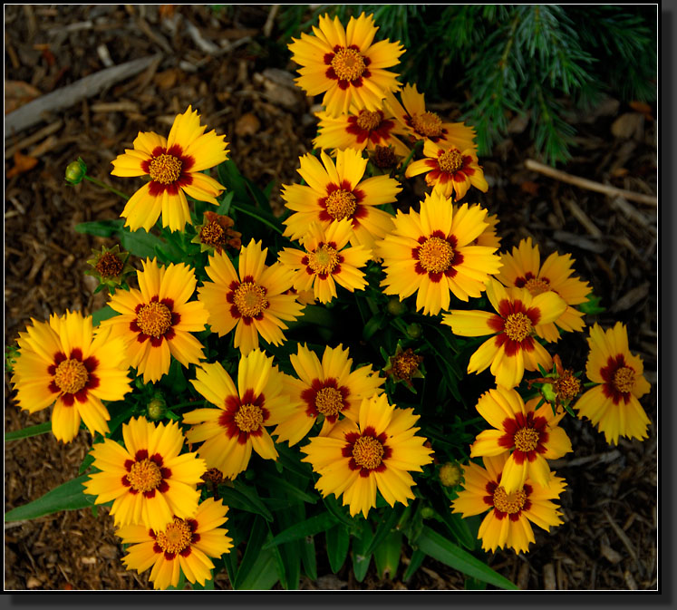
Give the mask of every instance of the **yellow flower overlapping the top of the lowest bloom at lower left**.
[[106, 439], [94, 445], [93, 467], [101, 470], [84, 483], [95, 504], [113, 500], [116, 525], [143, 524], [162, 531], [173, 518], [190, 518], [198, 509], [197, 485], [207, 470], [196, 453], [180, 453], [179, 424], [145, 417], [122, 424], [124, 447]]

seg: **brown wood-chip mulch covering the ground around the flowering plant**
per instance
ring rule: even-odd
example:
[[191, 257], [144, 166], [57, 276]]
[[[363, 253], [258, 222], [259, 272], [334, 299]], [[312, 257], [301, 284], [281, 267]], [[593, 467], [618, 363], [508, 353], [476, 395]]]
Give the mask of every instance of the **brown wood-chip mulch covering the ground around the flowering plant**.
[[[299, 155], [311, 150], [312, 101], [280, 64], [278, 24], [271, 7], [221, 9], [191, 5], [6, 5], [5, 107], [57, 91], [107, 67], [160, 53], [144, 72], [111, 85], [72, 108], [5, 134], [5, 344], [30, 319], [66, 309], [99, 308], [102, 295], [84, 276], [93, 247], [111, 242], [75, 232], [85, 220], [118, 218], [119, 198], [89, 183], [69, 187], [66, 165], [82, 157], [92, 176], [129, 191], [110, 176], [111, 160], [138, 131], [169, 130], [189, 104], [209, 128], [226, 133], [231, 157], [261, 187], [295, 181]], [[267, 25], [266, 25], [267, 24]], [[268, 29], [269, 28], [269, 29]], [[284, 47], [283, 47], [284, 48]], [[455, 120], [459, 101], [433, 110]], [[656, 193], [655, 107], [636, 111], [607, 99], [595, 111], [571, 112], [578, 131], [575, 158], [562, 168], [639, 193]], [[49, 129], [45, 129], [49, 128]], [[38, 134], [34, 136], [34, 134]], [[34, 136], [34, 137], [32, 137]], [[546, 178], [525, 169], [535, 158], [528, 133], [513, 121], [508, 139], [481, 159], [489, 191], [479, 198], [500, 218], [504, 247], [534, 237], [545, 257], [570, 252], [580, 276], [607, 311], [590, 322], [627, 324], [631, 350], [642, 356], [652, 392], [643, 406], [652, 426], [646, 441], [608, 446], [588, 422], [566, 418], [575, 452], [558, 460], [568, 483], [564, 525], [546, 533], [527, 555], [498, 552], [491, 565], [522, 588], [655, 589], [656, 461], [656, 208]], [[585, 362], [585, 336], [562, 342], [565, 365]], [[567, 362], [571, 359], [571, 363]], [[5, 431], [47, 421], [12, 400], [5, 374]], [[50, 434], [5, 446], [5, 510], [23, 505], [75, 476], [91, 438], [81, 431], [62, 445]], [[121, 564], [112, 519], [99, 511], [64, 512], [5, 525], [5, 590], [144, 589], [148, 572]], [[406, 560], [406, 557], [404, 558]], [[320, 561], [320, 566], [322, 566]], [[355, 583], [347, 566], [304, 588], [462, 588], [447, 566], [426, 561], [407, 584], [373, 572]], [[320, 572], [320, 574], [323, 574]], [[225, 575], [217, 586], [227, 588]]]

